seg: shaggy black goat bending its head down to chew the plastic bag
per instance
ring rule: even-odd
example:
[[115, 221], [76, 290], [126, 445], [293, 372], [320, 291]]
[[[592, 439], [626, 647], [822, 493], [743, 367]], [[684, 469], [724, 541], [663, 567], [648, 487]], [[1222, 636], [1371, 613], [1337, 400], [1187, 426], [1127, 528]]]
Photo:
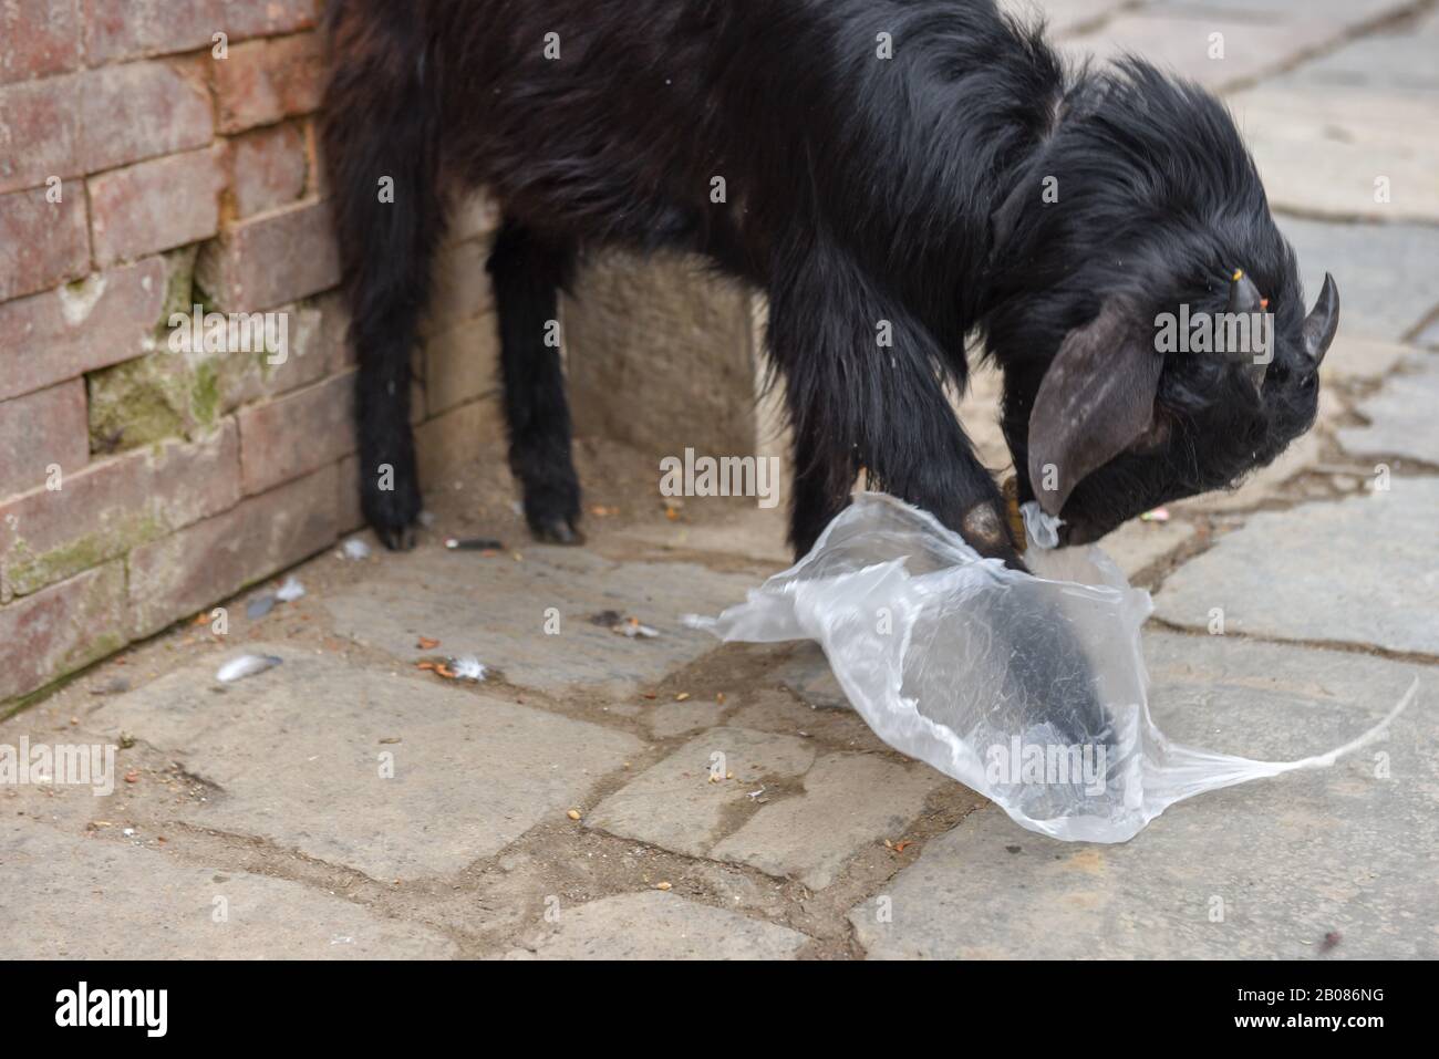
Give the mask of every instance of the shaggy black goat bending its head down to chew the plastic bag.
[[[511, 465], [544, 538], [576, 540], [580, 517], [544, 325], [578, 255], [602, 245], [698, 250], [768, 295], [800, 553], [865, 469], [1019, 563], [947, 394], [966, 384], [974, 337], [1004, 371], [1027, 499], [1030, 412], [1066, 335], [1118, 321], [1091, 328], [1091, 342], [1143, 337], [1153, 358], [1154, 315], [1223, 309], [1235, 269], [1269, 298], [1276, 350], [1262, 390], [1220, 357], [1170, 354], [1147, 388], [1111, 399], [1143, 404], [1147, 426], [1072, 483], [1071, 541], [1235, 482], [1314, 419], [1295, 262], [1253, 164], [1220, 104], [1141, 62], [1066, 72], [1038, 29], [991, 0], [330, 9], [324, 147], [361, 367], [361, 489], [391, 547], [409, 542], [420, 509], [409, 364], [430, 262], [446, 201], [481, 184], [504, 209], [489, 271]], [[558, 58], [545, 56], [550, 33]], [[892, 58], [878, 55], [881, 33]], [[393, 203], [377, 194], [383, 177]], [[1049, 177], [1056, 203], [1043, 199]], [[881, 321], [889, 348], [876, 345]], [[1128, 370], [1115, 354], [1112, 371]], [[377, 485], [383, 465], [391, 491]]]

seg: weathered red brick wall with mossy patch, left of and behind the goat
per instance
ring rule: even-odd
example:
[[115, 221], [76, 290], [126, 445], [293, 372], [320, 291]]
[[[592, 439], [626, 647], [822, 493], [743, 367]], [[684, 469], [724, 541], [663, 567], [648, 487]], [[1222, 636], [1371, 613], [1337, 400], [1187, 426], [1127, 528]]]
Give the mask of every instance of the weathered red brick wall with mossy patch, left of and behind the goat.
[[[361, 522], [318, 7], [0, 3], [0, 704]], [[417, 353], [432, 476], [498, 437], [492, 229], [465, 206]], [[288, 360], [171, 353], [194, 304], [285, 314]]]

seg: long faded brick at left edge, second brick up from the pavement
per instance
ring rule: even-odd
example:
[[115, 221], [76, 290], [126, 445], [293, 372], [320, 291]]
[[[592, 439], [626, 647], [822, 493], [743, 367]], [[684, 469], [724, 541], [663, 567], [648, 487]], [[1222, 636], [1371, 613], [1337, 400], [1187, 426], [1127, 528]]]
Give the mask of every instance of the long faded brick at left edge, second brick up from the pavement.
[[164, 442], [66, 475], [0, 504], [0, 577], [27, 596], [233, 506], [239, 442], [233, 420], [196, 443]]

